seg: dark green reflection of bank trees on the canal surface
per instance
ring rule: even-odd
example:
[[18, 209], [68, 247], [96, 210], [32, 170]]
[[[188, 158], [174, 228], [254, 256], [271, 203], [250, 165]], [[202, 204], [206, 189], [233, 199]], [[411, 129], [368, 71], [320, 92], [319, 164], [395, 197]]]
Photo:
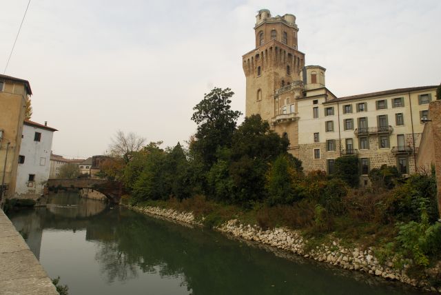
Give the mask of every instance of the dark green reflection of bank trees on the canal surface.
[[96, 258], [110, 282], [134, 278], [141, 269], [179, 278], [194, 295], [415, 294], [396, 285], [379, 288], [357, 282], [352, 272], [346, 278], [337, 269], [308, 261], [291, 263], [215, 232], [189, 230], [125, 208], [118, 213], [107, 216], [106, 230], [96, 232], [99, 236], [90, 236], [104, 241]]

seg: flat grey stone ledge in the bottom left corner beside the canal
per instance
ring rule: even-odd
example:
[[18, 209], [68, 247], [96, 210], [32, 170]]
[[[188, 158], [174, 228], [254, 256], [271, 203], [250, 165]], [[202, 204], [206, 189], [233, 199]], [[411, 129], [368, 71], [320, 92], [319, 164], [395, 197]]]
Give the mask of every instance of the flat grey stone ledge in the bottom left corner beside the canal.
[[8, 216], [0, 210], [0, 294], [58, 294]]

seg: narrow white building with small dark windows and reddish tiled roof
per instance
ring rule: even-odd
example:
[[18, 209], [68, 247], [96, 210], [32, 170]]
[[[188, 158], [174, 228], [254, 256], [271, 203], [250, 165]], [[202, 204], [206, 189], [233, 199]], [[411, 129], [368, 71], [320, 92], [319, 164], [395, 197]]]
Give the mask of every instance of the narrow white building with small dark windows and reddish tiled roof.
[[57, 129], [24, 121], [15, 196], [37, 199], [49, 179], [52, 137]]

